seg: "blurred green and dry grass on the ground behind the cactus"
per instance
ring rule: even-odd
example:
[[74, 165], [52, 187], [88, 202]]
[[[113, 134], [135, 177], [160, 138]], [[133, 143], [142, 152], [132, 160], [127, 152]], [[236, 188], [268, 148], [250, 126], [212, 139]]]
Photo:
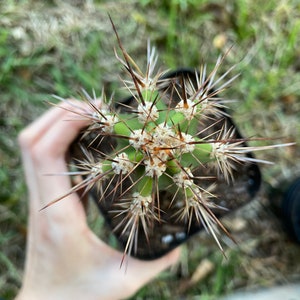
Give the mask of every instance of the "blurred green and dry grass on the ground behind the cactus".
[[[13, 299], [20, 287], [26, 238], [27, 194], [17, 135], [48, 108], [45, 100], [51, 94], [74, 96], [81, 87], [100, 94], [102, 86], [108, 93], [116, 87], [122, 71], [114, 58], [116, 41], [107, 13], [138, 61], [144, 59], [148, 37], [167, 68], [197, 67], [202, 62], [212, 66], [233, 46], [224, 68], [238, 64], [241, 73], [227, 95], [240, 99], [232, 108], [241, 131], [299, 143], [299, 1], [47, 3], [0, 3], [0, 291], [5, 299]], [[262, 169], [264, 187], [276, 186], [282, 178], [296, 175], [299, 148], [272, 151], [264, 158], [276, 162]], [[185, 246], [176, 270], [163, 273], [135, 299], [176, 298], [176, 286], [188, 280], [204, 258], [214, 264], [214, 272], [185, 291], [187, 299], [214, 299], [239, 288], [299, 280], [299, 266], [293, 263], [299, 259], [299, 248], [261, 203], [266, 203], [264, 193], [250, 206], [251, 212], [231, 217], [231, 224], [242, 220], [248, 225], [241, 232], [233, 226], [240, 246], [228, 247], [227, 260], [201, 234]], [[274, 261], [266, 257], [270, 249]], [[276, 259], [283, 265], [274, 263]]]

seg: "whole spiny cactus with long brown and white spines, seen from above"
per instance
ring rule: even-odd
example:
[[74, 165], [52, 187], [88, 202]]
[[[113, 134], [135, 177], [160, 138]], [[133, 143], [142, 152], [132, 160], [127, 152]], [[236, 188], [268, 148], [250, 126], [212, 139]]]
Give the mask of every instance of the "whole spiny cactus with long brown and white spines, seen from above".
[[227, 79], [230, 68], [217, 77], [222, 57], [210, 73], [203, 66], [169, 76], [156, 72], [157, 55], [148, 45], [142, 72], [116, 35], [130, 98], [116, 103], [104, 93], [99, 100], [83, 92], [93, 113], [80, 113], [91, 125], [72, 150], [76, 170], [70, 174], [83, 181], [70, 192], [84, 189], [96, 197], [124, 255], [163, 254], [202, 227], [222, 249], [218, 235], [230, 234], [219, 217], [240, 205], [238, 199], [226, 202], [223, 186], [232, 185], [240, 170], [247, 173], [243, 184], [259, 177], [256, 163], [267, 162], [250, 152], [276, 146], [249, 147], [236, 130], [228, 101], [220, 98], [236, 76]]

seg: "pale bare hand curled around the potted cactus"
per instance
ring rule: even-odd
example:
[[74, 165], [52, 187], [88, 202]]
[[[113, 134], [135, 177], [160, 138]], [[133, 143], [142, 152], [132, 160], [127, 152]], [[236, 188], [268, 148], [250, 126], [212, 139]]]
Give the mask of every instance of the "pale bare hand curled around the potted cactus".
[[[83, 102], [74, 102], [87, 106]], [[53, 107], [19, 136], [29, 191], [29, 225], [22, 288], [17, 300], [124, 299], [175, 264], [175, 249], [153, 261], [128, 258], [101, 241], [88, 227], [74, 193], [40, 211], [71, 188], [66, 153], [88, 120], [76, 120], [69, 104]], [[74, 107], [72, 107], [74, 110]]]

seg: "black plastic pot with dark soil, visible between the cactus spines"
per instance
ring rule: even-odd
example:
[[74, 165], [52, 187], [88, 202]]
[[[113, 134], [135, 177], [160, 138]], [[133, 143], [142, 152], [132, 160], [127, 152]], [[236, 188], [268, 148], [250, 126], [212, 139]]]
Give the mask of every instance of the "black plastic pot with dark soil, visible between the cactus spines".
[[[178, 84], [181, 80], [181, 77], [189, 78], [191, 82], [195, 82], [195, 71], [190, 69], [179, 69], [174, 72], [170, 72], [164, 75], [164, 79], [172, 79], [172, 84], [169, 86], [165, 86], [161, 89], [162, 93], [171, 93], [171, 89], [173, 89], [176, 84]], [[176, 100], [174, 100], [176, 102]], [[133, 98], [130, 97], [124, 101], [125, 104], [131, 104], [133, 102]], [[218, 122], [216, 122], [218, 121]], [[210, 118], [206, 118], [201, 124], [199, 124], [199, 128], [210, 128], [209, 132], [205, 132], [205, 135], [208, 133], [214, 133], [218, 131], [222, 126], [226, 124], [227, 128], [235, 127], [236, 129], [236, 139], [242, 138], [242, 135], [239, 133], [239, 130], [236, 128], [233, 120], [227, 116], [221, 116], [220, 120]], [[201, 132], [201, 130], [199, 130]], [[204, 137], [199, 135], [199, 138]], [[85, 138], [83, 141], [86, 145], [89, 145], [91, 148], [97, 148], [99, 142], [94, 140], [92, 144], [90, 139]], [[109, 140], [109, 143], [113, 143], [113, 140]], [[73, 146], [73, 147], [76, 147]], [[101, 149], [103, 151], [103, 149]], [[73, 151], [74, 153], [74, 151]], [[78, 153], [78, 152], [76, 152]], [[252, 156], [251, 154], [248, 154]], [[78, 158], [75, 155], [75, 158]], [[210, 169], [203, 168], [201, 170], [202, 176], [215, 176], [215, 172], [212, 173]], [[216, 209], [214, 214], [221, 218], [224, 215], [242, 207], [256, 195], [259, 190], [261, 183], [261, 173], [259, 167], [255, 163], [239, 163], [236, 165], [236, 170], [234, 171], [234, 182], [228, 184], [225, 179], [220, 176], [215, 178], [213, 181], [216, 183], [216, 190], [214, 190], [214, 194], [218, 197], [216, 198], [216, 202], [218, 205], [225, 207], [226, 210]], [[208, 182], [207, 185], [211, 185], [212, 181]], [[108, 181], [107, 186], [104, 186], [104, 190], [106, 190], [107, 196], [104, 195], [101, 201], [99, 201], [99, 195], [96, 189], [91, 190], [91, 195], [93, 196], [97, 206], [101, 214], [105, 217], [108, 226], [114, 231], [116, 237], [120, 241], [121, 248], [124, 249], [127, 238], [125, 235], [122, 235], [121, 232], [123, 228], [118, 228], [116, 230], [117, 225], [122, 221], [123, 215], [112, 214], [112, 205], [114, 202], [118, 201], [116, 199], [115, 194], [112, 193], [112, 189], [117, 184], [116, 181]], [[123, 185], [126, 186], [126, 182]], [[128, 183], [130, 184], [130, 183]], [[205, 183], [204, 183], [205, 184]], [[110, 185], [110, 186], [109, 186]], [[168, 192], [168, 190], [163, 190], [160, 192], [160, 202], [162, 211], [167, 211], [167, 208], [170, 203], [170, 199], [172, 199], [172, 195]], [[164, 203], [165, 202], [165, 203]], [[143, 234], [143, 230], [140, 230], [138, 237], [138, 247], [136, 251], [131, 253], [132, 256], [135, 256], [140, 259], [155, 259], [160, 257], [173, 248], [177, 247], [181, 243], [185, 242], [192, 235], [203, 229], [203, 225], [198, 223], [196, 220], [191, 222], [191, 226], [189, 228], [188, 224], [183, 221], [175, 220], [170, 216], [174, 214], [174, 211], [168, 213], [164, 213], [161, 215], [162, 221], [157, 222], [152, 228], [152, 233], [149, 235], [149, 239], [147, 240]]]

